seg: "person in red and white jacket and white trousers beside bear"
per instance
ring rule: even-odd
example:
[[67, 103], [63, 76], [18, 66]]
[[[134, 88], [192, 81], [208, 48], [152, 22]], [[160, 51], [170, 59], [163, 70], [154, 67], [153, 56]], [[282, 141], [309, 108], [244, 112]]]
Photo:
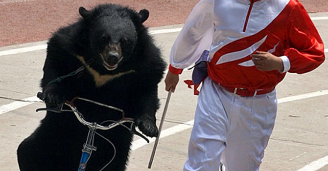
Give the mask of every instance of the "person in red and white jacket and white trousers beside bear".
[[165, 89], [209, 50], [184, 171], [258, 171], [277, 114], [276, 85], [325, 60], [298, 0], [200, 0], [170, 53]]

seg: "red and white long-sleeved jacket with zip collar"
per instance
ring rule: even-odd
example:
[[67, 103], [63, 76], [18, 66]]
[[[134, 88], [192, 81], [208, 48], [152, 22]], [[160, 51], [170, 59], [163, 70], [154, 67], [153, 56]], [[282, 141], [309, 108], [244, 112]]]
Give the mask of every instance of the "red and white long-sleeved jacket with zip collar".
[[[285, 73], [309, 72], [325, 60], [324, 44], [298, 0], [201, 0], [170, 54], [169, 70], [180, 74], [205, 49], [209, 77], [220, 85], [249, 90], [276, 86]], [[259, 71], [250, 55], [281, 57], [283, 71]]]

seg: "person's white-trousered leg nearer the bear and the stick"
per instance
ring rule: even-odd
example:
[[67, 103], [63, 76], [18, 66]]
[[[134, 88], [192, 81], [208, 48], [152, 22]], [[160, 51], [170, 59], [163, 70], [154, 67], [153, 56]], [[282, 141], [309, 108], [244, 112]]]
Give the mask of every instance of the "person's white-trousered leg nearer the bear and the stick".
[[207, 78], [201, 88], [184, 171], [219, 171], [229, 120], [217, 84]]

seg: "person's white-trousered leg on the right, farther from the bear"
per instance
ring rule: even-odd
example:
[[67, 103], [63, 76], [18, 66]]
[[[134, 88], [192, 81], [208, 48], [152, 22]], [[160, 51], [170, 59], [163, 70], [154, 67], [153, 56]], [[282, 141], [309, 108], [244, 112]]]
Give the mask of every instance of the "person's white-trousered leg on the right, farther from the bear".
[[235, 96], [231, 107], [231, 127], [222, 156], [225, 171], [258, 171], [276, 119], [276, 91], [255, 97]]

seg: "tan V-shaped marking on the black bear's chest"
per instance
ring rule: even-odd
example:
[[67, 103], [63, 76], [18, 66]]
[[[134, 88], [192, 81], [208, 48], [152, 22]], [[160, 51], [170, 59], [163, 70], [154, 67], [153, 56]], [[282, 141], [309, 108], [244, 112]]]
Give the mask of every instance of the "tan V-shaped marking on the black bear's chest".
[[112, 81], [118, 77], [121, 77], [126, 74], [130, 74], [133, 72], [136, 72], [135, 70], [130, 70], [126, 72], [119, 72], [115, 75], [100, 75], [94, 68], [90, 67], [84, 60], [82, 56], [77, 56], [77, 58], [86, 66], [88, 71], [91, 73], [91, 75], [94, 76], [94, 83], [97, 87], [100, 87], [102, 85], [105, 85], [107, 82]]

